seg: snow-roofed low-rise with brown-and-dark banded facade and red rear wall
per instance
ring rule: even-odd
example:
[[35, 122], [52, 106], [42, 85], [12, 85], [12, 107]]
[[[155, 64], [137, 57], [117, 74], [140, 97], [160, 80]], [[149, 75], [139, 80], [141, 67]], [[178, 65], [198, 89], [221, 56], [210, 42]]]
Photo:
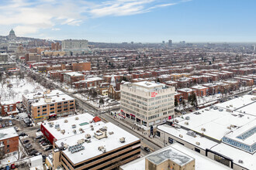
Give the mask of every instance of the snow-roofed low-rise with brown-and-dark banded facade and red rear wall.
[[90, 114], [45, 122], [41, 131], [54, 145], [52, 169], [117, 169], [140, 158], [140, 138]]

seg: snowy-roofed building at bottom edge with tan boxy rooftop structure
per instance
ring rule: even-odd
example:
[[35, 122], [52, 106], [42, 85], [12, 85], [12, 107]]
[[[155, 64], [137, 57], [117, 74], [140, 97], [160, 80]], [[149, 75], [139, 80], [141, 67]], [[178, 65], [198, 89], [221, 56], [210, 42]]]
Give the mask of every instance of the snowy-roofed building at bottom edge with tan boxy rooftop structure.
[[179, 144], [154, 151], [150, 155], [138, 158], [120, 166], [120, 170], [228, 170], [230, 168], [206, 158]]

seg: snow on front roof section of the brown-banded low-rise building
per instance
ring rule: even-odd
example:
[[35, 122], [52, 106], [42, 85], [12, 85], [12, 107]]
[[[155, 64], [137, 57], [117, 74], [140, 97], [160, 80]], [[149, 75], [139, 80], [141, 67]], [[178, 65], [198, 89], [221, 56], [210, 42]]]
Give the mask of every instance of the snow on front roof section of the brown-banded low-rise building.
[[[99, 140], [94, 137], [95, 135], [94, 133], [98, 131], [99, 128], [103, 128], [103, 127], [107, 128], [108, 138], [102, 138]], [[113, 134], [109, 134], [109, 132], [113, 132]], [[63, 142], [64, 145], [67, 144], [69, 146], [77, 145], [78, 140], [82, 138], [85, 139], [85, 134], [91, 135], [91, 138], [90, 138], [91, 142], [90, 143], [85, 142], [82, 144], [82, 146], [85, 147], [84, 150], [75, 152], [73, 154], [71, 153], [71, 151], [68, 151], [68, 149], [63, 151], [63, 154], [66, 155], [67, 158], [69, 158], [69, 160], [74, 164], [85, 161], [89, 158], [94, 158], [95, 156], [98, 156], [98, 155], [102, 155], [103, 152], [99, 151], [100, 146], [104, 146], [104, 148], [106, 148], [106, 152], [108, 152], [140, 140], [140, 138], [137, 138], [133, 134], [130, 134], [129, 132], [124, 131], [122, 128], [117, 127], [115, 124], [112, 124], [109, 122], [106, 124], [100, 124], [95, 126], [93, 131], [91, 129], [86, 129], [84, 133], [76, 134], [75, 138], [69, 137], [69, 138], [61, 139], [57, 141], [55, 144], [59, 147], [61, 147], [61, 142]], [[119, 141], [119, 138], [125, 138], [125, 142], [121, 143]]]

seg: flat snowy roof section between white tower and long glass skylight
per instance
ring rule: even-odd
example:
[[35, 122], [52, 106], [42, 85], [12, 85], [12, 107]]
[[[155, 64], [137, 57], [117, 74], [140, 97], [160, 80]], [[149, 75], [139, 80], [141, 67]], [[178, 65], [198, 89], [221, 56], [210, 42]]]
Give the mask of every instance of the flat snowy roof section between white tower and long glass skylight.
[[[203, 111], [203, 112], [202, 112]], [[200, 112], [200, 114], [194, 114]], [[182, 127], [189, 128], [192, 131], [203, 133], [206, 136], [221, 141], [223, 136], [231, 131], [244, 126], [251, 121], [254, 121], [254, 116], [244, 116], [244, 114], [230, 113], [226, 110], [198, 110], [191, 114], [185, 114], [184, 117], [189, 117], [189, 120], [179, 121], [177, 124]], [[228, 128], [232, 125], [231, 128]], [[205, 131], [202, 131], [202, 129]]]

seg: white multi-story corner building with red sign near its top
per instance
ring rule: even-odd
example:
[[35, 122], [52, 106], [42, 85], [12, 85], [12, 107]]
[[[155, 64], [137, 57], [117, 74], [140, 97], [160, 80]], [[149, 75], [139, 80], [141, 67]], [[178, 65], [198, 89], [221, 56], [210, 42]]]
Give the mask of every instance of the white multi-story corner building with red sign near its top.
[[163, 83], [138, 82], [121, 85], [121, 114], [149, 128], [175, 115], [175, 87]]

